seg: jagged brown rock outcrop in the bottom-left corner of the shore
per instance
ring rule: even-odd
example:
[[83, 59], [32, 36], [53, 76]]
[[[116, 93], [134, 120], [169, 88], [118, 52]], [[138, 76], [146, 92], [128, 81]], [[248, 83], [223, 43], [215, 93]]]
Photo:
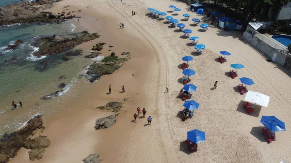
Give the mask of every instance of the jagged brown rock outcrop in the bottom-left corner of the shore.
[[32, 149], [29, 152], [30, 160], [41, 159], [45, 148], [49, 147], [50, 141], [46, 136], [38, 136], [34, 139], [28, 138], [37, 130], [43, 130], [41, 116], [35, 116], [27, 122], [27, 125], [19, 131], [7, 134], [0, 139], [0, 163], [7, 163], [10, 158], [16, 156], [17, 151], [24, 147]]

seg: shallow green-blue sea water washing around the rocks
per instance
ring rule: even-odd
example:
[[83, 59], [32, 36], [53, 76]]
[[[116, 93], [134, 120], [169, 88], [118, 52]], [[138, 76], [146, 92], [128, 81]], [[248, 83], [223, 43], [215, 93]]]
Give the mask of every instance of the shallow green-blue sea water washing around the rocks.
[[[0, 6], [18, 3], [19, 0], [0, 0]], [[25, 125], [27, 120], [35, 115], [46, 115], [54, 112], [54, 106], [60, 102], [58, 98], [68, 95], [72, 86], [78, 82], [79, 76], [85, 73], [86, 65], [92, 59], [83, 56], [69, 57], [68, 61], [54, 56], [36, 58], [32, 55], [38, 47], [30, 45], [33, 39], [53, 34], [70, 34], [75, 31], [75, 20], [61, 24], [14, 24], [0, 27], [0, 136], [5, 132], [13, 132]], [[22, 40], [14, 50], [5, 50], [7, 45]], [[89, 52], [88, 52], [89, 53]], [[86, 53], [85, 53], [86, 54]], [[16, 61], [12, 61], [17, 57]], [[5, 62], [5, 59], [10, 59]], [[41, 60], [51, 61], [45, 70], [40, 70]], [[44, 95], [57, 90], [57, 86], [64, 82], [67, 86], [57, 97], [41, 100]], [[15, 110], [12, 101], [23, 107]]]

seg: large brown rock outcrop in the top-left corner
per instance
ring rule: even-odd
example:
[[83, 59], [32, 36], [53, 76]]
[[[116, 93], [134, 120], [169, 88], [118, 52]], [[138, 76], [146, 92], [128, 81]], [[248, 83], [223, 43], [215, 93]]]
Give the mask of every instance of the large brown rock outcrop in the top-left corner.
[[57, 16], [45, 11], [51, 8], [54, 2], [55, 0], [23, 1], [0, 7], [0, 26], [32, 22], [60, 23], [68, 19], [69, 17]]

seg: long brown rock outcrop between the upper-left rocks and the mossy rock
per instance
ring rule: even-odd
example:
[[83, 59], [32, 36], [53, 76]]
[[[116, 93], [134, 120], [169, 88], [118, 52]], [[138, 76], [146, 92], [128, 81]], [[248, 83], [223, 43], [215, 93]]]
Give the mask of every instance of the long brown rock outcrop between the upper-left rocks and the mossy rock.
[[[39, 47], [33, 55], [37, 57], [63, 53], [73, 47], [100, 37], [98, 33], [67, 34], [51, 37], [39, 37], [31, 45]], [[80, 54], [80, 53], [79, 53]]]

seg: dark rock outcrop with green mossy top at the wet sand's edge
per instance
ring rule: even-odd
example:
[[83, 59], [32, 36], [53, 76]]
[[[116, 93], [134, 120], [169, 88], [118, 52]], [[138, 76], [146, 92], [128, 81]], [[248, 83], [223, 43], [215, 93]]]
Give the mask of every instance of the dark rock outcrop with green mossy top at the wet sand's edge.
[[114, 71], [118, 70], [123, 63], [128, 61], [130, 58], [118, 58], [117, 56], [108, 56], [105, 57], [101, 63], [94, 62], [87, 69], [87, 75], [90, 77], [89, 82], [94, 82], [95, 80], [99, 80], [102, 75], [112, 74]]

